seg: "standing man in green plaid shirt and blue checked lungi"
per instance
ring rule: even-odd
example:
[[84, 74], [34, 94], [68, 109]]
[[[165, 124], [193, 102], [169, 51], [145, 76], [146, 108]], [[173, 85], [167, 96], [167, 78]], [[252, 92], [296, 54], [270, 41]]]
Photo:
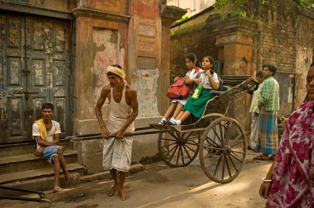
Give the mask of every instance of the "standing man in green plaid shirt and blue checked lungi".
[[[273, 78], [277, 68], [273, 65], [263, 65], [264, 86], [258, 101], [260, 142], [256, 149], [261, 147], [261, 155], [254, 157], [257, 160], [273, 160], [278, 149], [277, 111], [279, 110], [279, 85]], [[269, 157], [268, 155], [272, 156]]]

